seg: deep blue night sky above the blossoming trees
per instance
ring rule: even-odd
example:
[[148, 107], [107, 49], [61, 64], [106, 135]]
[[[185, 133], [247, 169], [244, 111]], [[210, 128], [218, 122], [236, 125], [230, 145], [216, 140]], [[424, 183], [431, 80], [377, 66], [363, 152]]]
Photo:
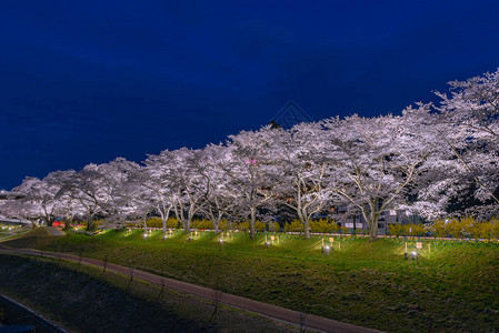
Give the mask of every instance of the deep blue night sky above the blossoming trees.
[[219, 142], [289, 100], [398, 113], [499, 67], [497, 1], [238, 2], [3, 1], [0, 189]]

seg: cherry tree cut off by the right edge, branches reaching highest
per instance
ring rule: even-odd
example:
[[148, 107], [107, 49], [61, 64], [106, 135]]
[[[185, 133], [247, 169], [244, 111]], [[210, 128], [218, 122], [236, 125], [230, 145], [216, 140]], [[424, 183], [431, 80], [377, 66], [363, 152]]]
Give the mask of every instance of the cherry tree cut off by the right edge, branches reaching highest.
[[493, 200], [498, 209], [499, 181], [499, 70], [495, 73], [449, 82], [450, 95], [441, 98], [437, 124], [475, 183], [480, 201]]

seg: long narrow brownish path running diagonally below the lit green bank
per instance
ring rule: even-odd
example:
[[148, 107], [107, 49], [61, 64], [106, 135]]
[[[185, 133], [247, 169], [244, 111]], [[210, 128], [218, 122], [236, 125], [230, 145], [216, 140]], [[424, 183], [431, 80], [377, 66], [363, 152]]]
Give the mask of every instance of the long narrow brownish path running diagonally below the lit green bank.
[[[61, 258], [64, 260], [79, 262], [80, 258], [71, 254], [58, 254], [53, 252], [41, 252], [38, 250], [28, 250], [28, 249], [11, 249], [7, 246], [2, 246], [0, 244], [0, 253], [11, 253], [11, 254], [30, 254], [30, 255], [43, 255], [43, 256], [51, 256], [51, 258]], [[91, 258], [81, 258], [81, 263], [98, 266], [98, 268], [104, 268], [104, 262]], [[130, 278], [133, 275], [133, 279], [138, 279], [141, 281], [146, 281], [156, 285], [161, 286], [164, 284], [166, 287], [173, 289], [180, 292], [184, 292], [188, 294], [192, 294], [196, 296], [200, 296], [203, 299], [208, 299], [211, 301], [216, 301], [217, 299], [220, 300], [221, 303], [240, 307], [243, 310], [248, 310], [250, 312], [260, 313], [263, 315], [272, 316], [282, 321], [287, 321], [290, 323], [295, 323], [300, 325], [303, 323], [305, 326], [312, 329], [312, 330], [320, 330], [325, 332], [341, 332], [341, 333], [367, 333], [367, 332], [380, 332], [372, 329], [366, 329], [360, 327], [338, 321], [333, 321], [330, 319], [312, 315], [312, 314], [303, 314], [298, 311], [288, 310], [281, 306], [262, 303], [258, 301], [253, 301], [246, 297], [240, 297], [231, 294], [222, 293], [220, 295], [219, 292], [204, 287], [199, 286], [196, 284], [190, 284], [186, 282], [180, 282], [177, 280], [159, 276], [156, 274], [151, 274], [148, 272], [139, 271], [139, 270], [131, 270], [129, 268], [120, 266], [112, 263], [107, 263], [107, 271], [111, 271], [114, 273], [122, 274], [124, 276]], [[305, 321], [305, 322], [303, 322]]]

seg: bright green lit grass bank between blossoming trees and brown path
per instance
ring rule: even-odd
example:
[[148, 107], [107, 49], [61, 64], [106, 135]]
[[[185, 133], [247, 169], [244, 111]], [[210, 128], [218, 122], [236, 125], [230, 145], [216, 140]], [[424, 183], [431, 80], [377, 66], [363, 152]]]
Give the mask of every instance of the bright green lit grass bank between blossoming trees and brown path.
[[[108, 231], [69, 234], [44, 250], [82, 253], [335, 320], [391, 332], [490, 332], [499, 327], [499, 245], [423, 242], [405, 260], [405, 240], [224, 236], [210, 232]], [[270, 235], [267, 238], [270, 242]], [[340, 249], [339, 249], [340, 248]], [[416, 250], [410, 242], [409, 252]]]

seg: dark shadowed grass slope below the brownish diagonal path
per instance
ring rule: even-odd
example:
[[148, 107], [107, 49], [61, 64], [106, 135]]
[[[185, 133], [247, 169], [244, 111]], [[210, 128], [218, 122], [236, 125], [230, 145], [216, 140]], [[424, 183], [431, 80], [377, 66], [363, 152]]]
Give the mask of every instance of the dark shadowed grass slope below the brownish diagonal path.
[[[289, 332], [296, 329], [64, 261], [0, 255], [0, 293], [70, 332]], [[0, 309], [1, 310], [1, 309]], [[1, 311], [0, 311], [1, 312]]]

